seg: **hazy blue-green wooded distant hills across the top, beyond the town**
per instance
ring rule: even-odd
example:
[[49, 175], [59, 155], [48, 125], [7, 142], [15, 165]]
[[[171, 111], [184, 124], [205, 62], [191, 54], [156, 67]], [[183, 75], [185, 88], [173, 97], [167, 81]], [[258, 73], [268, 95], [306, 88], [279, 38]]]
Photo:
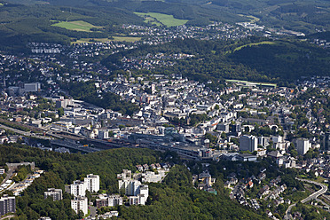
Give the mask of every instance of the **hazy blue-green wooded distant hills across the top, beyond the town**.
[[[0, 1], [0, 50], [24, 50], [30, 41], [68, 44], [73, 38], [104, 38], [122, 24], [143, 24], [135, 12], [158, 12], [203, 26], [212, 21], [256, 22], [265, 27], [312, 35], [330, 31], [327, 0], [6, 0]], [[79, 21], [104, 27], [82, 32], [52, 26], [54, 22]]]

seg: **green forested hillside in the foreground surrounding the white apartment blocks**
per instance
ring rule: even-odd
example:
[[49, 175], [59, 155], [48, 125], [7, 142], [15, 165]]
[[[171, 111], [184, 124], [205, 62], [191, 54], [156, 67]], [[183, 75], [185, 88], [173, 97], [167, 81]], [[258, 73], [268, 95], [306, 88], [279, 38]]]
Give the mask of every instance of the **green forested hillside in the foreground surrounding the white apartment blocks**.
[[[176, 156], [172, 154], [174, 158]], [[117, 192], [116, 173], [143, 163], [161, 162], [166, 153], [148, 149], [114, 149], [85, 155], [44, 152], [24, 145], [0, 145], [0, 165], [5, 162], [35, 161], [46, 173], [35, 180], [22, 196], [17, 197], [14, 219], [36, 220], [50, 216], [53, 220], [76, 219], [70, 209], [70, 197], [44, 200], [43, 192], [50, 187], [61, 188], [75, 179], [93, 173], [100, 176], [100, 187], [108, 193]], [[169, 157], [168, 157], [169, 158]], [[123, 219], [263, 219], [252, 209], [240, 206], [224, 194], [222, 179], [216, 182], [217, 195], [193, 188], [192, 174], [185, 166], [176, 165], [162, 184], [149, 185], [150, 200], [141, 207], [119, 207]]]

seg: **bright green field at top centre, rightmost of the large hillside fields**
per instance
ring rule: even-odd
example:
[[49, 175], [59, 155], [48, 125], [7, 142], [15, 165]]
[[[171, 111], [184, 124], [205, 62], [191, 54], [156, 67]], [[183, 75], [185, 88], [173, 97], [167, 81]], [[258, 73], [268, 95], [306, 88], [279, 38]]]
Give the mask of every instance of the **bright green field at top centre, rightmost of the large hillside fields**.
[[148, 12], [148, 13], [135, 12], [135, 13], [141, 17], [145, 17], [145, 21], [150, 20], [153, 24], [158, 25], [157, 23], [161, 23], [167, 27], [185, 25], [185, 23], [188, 22], [188, 20], [175, 19], [173, 15], [169, 15], [169, 14], [155, 13], [155, 12]]

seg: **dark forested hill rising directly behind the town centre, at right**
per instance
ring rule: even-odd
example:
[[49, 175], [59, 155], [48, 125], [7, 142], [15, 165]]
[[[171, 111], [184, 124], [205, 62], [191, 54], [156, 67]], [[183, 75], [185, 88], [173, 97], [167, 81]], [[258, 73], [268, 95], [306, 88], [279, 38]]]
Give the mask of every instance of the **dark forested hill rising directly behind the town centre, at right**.
[[[158, 67], [149, 72], [182, 73], [201, 82], [240, 79], [288, 85], [301, 76], [329, 75], [329, 51], [316, 45], [295, 41], [270, 41], [250, 37], [238, 42], [176, 40], [153, 47], [123, 51], [103, 60], [112, 69], [122, 67], [122, 58], [144, 57], [148, 53], [165, 55], [186, 53], [193, 58], [174, 60], [173, 67]], [[140, 72], [136, 70], [137, 72]]]

